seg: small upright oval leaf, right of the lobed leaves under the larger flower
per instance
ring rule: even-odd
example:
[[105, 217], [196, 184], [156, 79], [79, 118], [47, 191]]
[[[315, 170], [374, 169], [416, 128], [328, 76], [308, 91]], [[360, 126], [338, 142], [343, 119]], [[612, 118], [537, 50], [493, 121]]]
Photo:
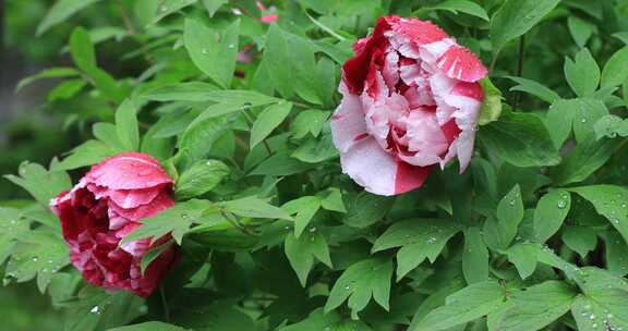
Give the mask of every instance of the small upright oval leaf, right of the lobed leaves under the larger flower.
[[480, 228], [464, 230], [464, 250], [462, 252], [462, 273], [468, 284], [488, 280], [488, 249], [482, 238]]

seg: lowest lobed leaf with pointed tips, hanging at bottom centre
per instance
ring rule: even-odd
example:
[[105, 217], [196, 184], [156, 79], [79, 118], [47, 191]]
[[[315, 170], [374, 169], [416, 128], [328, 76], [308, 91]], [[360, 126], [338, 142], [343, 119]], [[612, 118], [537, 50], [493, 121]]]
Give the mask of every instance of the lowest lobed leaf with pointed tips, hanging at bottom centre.
[[390, 279], [392, 278], [392, 261], [386, 258], [370, 258], [349, 267], [334, 284], [325, 312], [329, 312], [349, 298], [348, 306], [351, 317], [358, 319], [371, 297], [384, 309], [389, 309]]

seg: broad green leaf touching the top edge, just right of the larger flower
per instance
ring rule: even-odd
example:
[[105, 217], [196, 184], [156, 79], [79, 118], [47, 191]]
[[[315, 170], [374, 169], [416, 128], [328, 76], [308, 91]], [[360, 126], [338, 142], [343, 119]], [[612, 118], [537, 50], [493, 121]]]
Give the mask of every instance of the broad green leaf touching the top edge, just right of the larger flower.
[[547, 15], [559, 0], [506, 0], [491, 19], [491, 41], [495, 49], [526, 34]]

